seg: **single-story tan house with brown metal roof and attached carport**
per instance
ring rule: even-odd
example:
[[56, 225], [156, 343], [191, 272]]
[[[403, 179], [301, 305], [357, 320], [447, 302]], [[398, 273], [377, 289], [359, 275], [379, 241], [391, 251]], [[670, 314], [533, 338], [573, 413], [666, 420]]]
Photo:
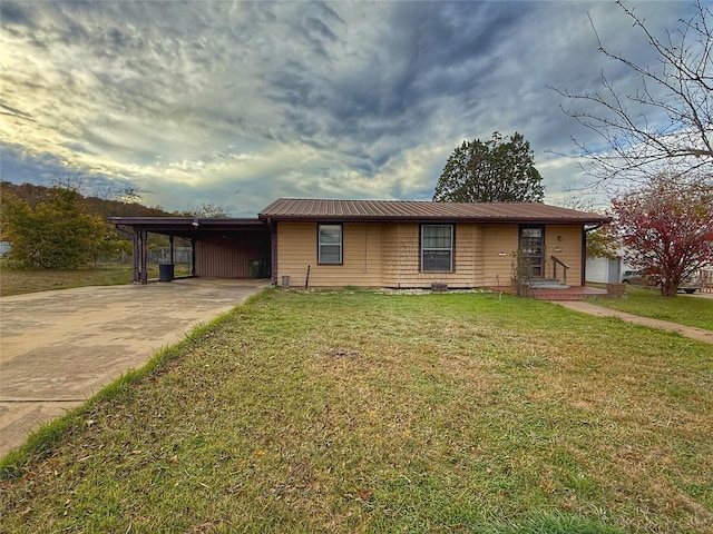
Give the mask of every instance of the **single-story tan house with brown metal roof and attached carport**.
[[111, 221], [134, 233], [135, 281], [158, 233], [193, 241], [196, 276], [247, 276], [261, 260], [276, 285], [471, 288], [509, 286], [518, 250], [534, 278], [584, 286], [586, 231], [609, 218], [539, 202], [281, 198], [256, 219]]

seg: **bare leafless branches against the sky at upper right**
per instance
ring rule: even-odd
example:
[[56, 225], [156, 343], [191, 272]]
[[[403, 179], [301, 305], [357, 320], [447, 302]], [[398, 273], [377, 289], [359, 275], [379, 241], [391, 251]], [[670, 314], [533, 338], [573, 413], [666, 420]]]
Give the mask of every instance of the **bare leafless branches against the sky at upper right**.
[[577, 108], [565, 113], [593, 130], [608, 147], [574, 142], [587, 157], [584, 169], [597, 185], [646, 180], [662, 171], [692, 181], [713, 180], [713, 12], [697, 0], [694, 14], [675, 29], [655, 36], [633, 8], [616, 2], [653, 47], [658, 61], [641, 65], [607, 48], [592, 18], [599, 51], [641, 77], [633, 93], [622, 93], [602, 73], [596, 92], [574, 93], [553, 88]]

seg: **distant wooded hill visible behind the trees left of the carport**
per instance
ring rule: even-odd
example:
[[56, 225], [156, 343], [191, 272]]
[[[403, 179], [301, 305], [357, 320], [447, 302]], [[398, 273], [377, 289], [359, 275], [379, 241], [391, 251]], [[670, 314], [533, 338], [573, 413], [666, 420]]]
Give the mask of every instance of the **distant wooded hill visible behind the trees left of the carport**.
[[[32, 184], [16, 185], [9, 181], [0, 181], [0, 198], [4, 195], [14, 195], [35, 207], [39, 202], [47, 199], [49, 187], [35, 186]], [[121, 200], [107, 200], [98, 197], [85, 197], [80, 195], [85, 201], [87, 211], [91, 215], [98, 215], [105, 220], [109, 217], [175, 217], [162, 209], [159, 206], [147, 207], [137, 202], [125, 202]]]

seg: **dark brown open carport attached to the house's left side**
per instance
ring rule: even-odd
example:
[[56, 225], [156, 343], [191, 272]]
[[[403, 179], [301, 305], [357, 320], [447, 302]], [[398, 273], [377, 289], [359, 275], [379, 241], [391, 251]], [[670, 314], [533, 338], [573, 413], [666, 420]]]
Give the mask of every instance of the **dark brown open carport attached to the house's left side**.
[[148, 283], [150, 234], [168, 236], [170, 260], [167, 265], [159, 265], [163, 281], [173, 279], [174, 238], [176, 237], [191, 243], [192, 276], [204, 278], [268, 278], [271, 276], [271, 230], [263, 220], [111, 217], [109, 221], [119, 231], [131, 235], [135, 283]]

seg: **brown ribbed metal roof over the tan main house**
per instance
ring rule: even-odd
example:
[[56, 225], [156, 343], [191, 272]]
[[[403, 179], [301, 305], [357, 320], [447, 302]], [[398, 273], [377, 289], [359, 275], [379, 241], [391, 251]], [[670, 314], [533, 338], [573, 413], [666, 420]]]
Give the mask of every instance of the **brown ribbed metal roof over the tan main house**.
[[599, 214], [540, 202], [427, 202], [280, 198], [263, 208], [268, 220], [461, 220], [470, 222], [605, 224]]

